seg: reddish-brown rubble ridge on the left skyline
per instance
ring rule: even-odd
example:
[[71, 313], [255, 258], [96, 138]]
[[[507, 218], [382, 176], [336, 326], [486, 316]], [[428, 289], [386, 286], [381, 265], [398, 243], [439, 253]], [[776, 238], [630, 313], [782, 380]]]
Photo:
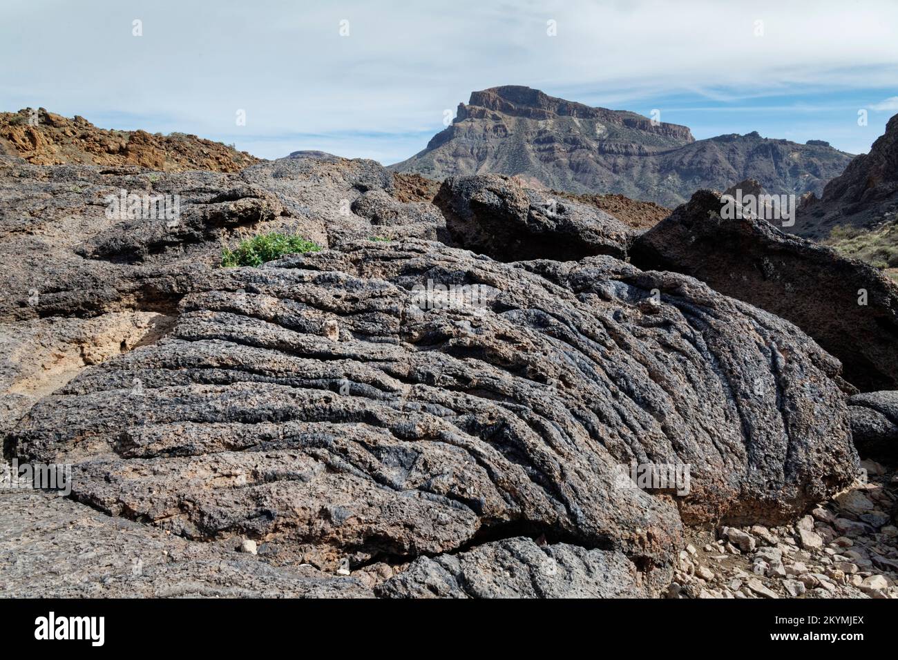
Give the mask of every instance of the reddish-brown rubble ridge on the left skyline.
[[164, 172], [239, 172], [260, 162], [233, 146], [197, 136], [106, 130], [84, 117], [67, 119], [43, 108], [0, 112], [0, 154], [4, 153], [34, 165], [138, 165]]

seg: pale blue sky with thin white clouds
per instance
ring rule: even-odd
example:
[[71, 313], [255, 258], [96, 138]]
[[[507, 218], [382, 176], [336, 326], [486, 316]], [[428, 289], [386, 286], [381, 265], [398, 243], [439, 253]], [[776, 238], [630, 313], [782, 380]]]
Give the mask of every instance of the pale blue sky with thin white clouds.
[[395, 163], [502, 84], [859, 154], [898, 113], [898, 2], [0, 0], [0, 62], [0, 111], [263, 158]]

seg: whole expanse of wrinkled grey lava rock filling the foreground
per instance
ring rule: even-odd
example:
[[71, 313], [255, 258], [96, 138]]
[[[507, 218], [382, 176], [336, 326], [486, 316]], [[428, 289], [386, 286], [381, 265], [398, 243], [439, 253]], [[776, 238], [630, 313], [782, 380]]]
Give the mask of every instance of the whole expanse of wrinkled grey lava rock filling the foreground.
[[[119, 189], [180, 195], [177, 222], [107, 216]], [[654, 595], [684, 525], [790, 524], [855, 479], [840, 365], [788, 321], [610, 255], [425, 241], [440, 215], [395, 193], [326, 155], [2, 159], [4, 454], [72, 463], [75, 501], [0, 494], [0, 548], [91, 521], [0, 561], [7, 593], [84, 554], [66, 594]], [[593, 237], [597, 212], [569, 209]], [[326, 250], [218, 267], [267, 229]], [[688, 464], [688, 488], [638, 488], [631, 464]], [[107, 539], [174, 559], [119, 580]]]

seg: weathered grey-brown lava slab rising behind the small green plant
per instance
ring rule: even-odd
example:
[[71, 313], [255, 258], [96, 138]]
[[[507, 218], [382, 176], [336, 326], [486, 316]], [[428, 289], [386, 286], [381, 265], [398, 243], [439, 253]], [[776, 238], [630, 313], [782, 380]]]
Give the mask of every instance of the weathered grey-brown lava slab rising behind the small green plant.
[[[177, 195], [180, 214], [174, 222], [110, 217], [106, 200], [120, 190]], [[374, 220], [356, 215], [353, 204], [369, 191], [392, 192], [392, 176], [364, 160], [282, 159], [234, 174], [0, 163], [0, 258], [16, 265], [0, 275], [0, 319], [134, 307], [136, 289], [145, 290], [148, 278], [163, 279], [169, 268], [175, 274], [165, 276], [168, 289], [138, 301], [164, 307], [166, 295], [183, 293], [185, 272], [216, 265], [221, 241], [233, 243], [242, 233], [301, 233], [325, 248], [377, 233], [436, 234], [441, 220], [432, 210], [418, 211], [424, 228], [412, 222], [398, 227], [383, 210], [369, 214]], [[416, 208], [395, 202], [392, 210]]]

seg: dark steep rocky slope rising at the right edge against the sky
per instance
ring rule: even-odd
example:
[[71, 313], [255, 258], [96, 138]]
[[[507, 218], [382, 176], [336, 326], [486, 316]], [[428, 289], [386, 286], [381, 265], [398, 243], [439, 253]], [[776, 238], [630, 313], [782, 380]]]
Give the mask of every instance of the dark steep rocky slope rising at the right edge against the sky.
[[898, 115], [869, 154], [857, 156], [845, 172], [826, 184], [821, 198], [798, 210], [793, 232], [825, 238], [832, 229], [870, 230], [898, 222]]

